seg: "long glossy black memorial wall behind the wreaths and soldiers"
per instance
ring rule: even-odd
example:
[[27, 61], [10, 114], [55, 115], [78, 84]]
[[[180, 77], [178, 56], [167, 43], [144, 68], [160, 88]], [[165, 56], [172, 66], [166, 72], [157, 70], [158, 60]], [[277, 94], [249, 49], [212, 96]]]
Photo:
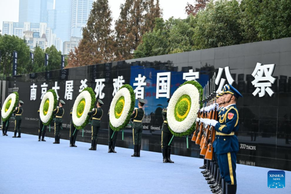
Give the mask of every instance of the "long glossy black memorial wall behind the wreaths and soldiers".
[[[252, 76], [257, 63], [262, 65], [275, 64], [271, 76], [276, 80], [271, 85], [274, 91], [272, 97], [266, 92], [263, 97], [254, 96]], [[43, 73], [19, 75], [6, 80], [6, 97], [8, 88], [18, 87], [19, 99], [25, 102], [23, 109], [22, 132], [36, 135], [38, 133], [38, 113], [41, 102], [41, 85], [48, 84], [47, 89], [55, 86], [57, 81], [60, 89], [58, 95], [65, 100], [65, 82], [73, 81], [73, 100], [65, 100], [65, 114], [61, 138], [69, 138], [70, 120], [69, 111], [74, 99], [79, 94], [81, 80], [87, 79], [88, 87], [96, 88], [96, 79], [105, 79], [103, 93], [104, 106], [101, 120], [101, 130], [98, 134], [98, 144], [108, 143], [108, 110], [113, 98], [113, 79], [123, 76], [124, 83], [133, 86], [138, 74], [146, 76], [145, 87], [145, 119], [142, 139], [142, 149], [161, 152], [162, 108], [167, 107], [167, 98], [156, 98], [157, 73], [171, 72], [171, 95], [183, 83], [183, 73], [193, 69], [199, 72], [198, 82], [204, 86], [214, 72], [219, 68], [229, 67], [233, 86], [238, 88], [243, 98], [238, 100], [240, 129], [236, 133], [239, 139], [240, 151], [237, 163], [291, 170], [291, 38], [242, 44], [236, 46], [196, 50], [177, 54], [168, 54], [155, 57], [113, 62], [107, 64], [89, 65], [55, 70]], [[226, 80], [225, 69], [222, 79]], [[36, 99], [31, 100], [31, 85], [37, 85]], [[219, 84], [218, 84], [219, 85]], [[218, 88], [216, 85], [216, 89]], [[133, 86], [135, 88], [135, 86]], [[137, 104], [136, 104], [137, 106]], [[14, 121], [11, 118], [10, 131], [14, 130]], [[53, 125], [47, 129], [47, 136], [53, 137]], [[130, 127], [130, 126], [129, 126]], [[200, 149], [191, 142], [189, 136], [187, 149], [186, 137], [175, 137], [173, 154], [200, 157]], [[37, 137], [35, 137], [37, 141]], [[77, 141], [90, 142], [91, 130], [87, 126], [78, 133]], [[132, 130], [124, 129], [118, 133], [117, 146], [132, 148]], [[62, 144], [62, 141], [61, 141]], [[88, 144], [89, 147], [89, 144]], [[162, 156], [161, 156], [162, 157]]]

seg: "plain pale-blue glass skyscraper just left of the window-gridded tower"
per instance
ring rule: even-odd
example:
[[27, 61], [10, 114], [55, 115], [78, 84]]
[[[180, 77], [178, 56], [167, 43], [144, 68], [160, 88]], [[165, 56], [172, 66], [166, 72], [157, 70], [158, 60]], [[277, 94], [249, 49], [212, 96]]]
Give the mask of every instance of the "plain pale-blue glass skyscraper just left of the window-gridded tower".
[[56, 0], [55, 1], [55, 30], [58, 38], [63, 41], [70, 40], [70, 13], [71, 0]]

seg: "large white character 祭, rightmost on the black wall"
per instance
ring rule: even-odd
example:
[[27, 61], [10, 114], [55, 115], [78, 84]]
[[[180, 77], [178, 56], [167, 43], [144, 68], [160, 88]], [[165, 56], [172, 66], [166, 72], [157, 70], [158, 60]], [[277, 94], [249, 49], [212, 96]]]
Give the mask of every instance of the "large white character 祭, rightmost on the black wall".
[[[260, 63], [257, 63], [256, 68], [252, 73], [252, 76], [255, 78], [255, 80], [252, 81], [252, 84], [257, 88], [255, 92], [253, 92], [254, 96], [259, 93], [259, 97], [263, 97], [265, 96], [266, 92], [269, 94], [270, 97], [273, 96], [274, 92], [270, 87], [272, 86], [272, 83], [274, 83], [276, 80], [272, 77], [274, 68], [275, 64], [262, 65]], [[263, 76], [264, 74], [265, 76]], [[258, 83], [259, 81], [267, 82]]]

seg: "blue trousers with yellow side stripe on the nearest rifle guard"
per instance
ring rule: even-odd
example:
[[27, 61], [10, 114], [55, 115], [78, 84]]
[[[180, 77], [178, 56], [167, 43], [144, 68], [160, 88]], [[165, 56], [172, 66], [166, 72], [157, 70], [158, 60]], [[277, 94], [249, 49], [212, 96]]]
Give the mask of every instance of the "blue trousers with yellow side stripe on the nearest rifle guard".
[[236, 185], [236, 154], [237, 152], [228, 152], [226, 154], [217, 154], [219, 170], [221, 177], [227, 184]]

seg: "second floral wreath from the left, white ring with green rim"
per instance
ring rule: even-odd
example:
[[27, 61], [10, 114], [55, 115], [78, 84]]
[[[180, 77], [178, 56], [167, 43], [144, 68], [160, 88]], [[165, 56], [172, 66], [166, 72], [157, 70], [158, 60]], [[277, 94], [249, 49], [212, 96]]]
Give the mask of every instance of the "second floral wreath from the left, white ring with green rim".
[[53, 119], [53, 110], [56, 109], [58, 104], [57, 94], [54, 90], [48, 90], [41, 100], [39, 107], [40, 120], [44, 125], [49, 126]]

